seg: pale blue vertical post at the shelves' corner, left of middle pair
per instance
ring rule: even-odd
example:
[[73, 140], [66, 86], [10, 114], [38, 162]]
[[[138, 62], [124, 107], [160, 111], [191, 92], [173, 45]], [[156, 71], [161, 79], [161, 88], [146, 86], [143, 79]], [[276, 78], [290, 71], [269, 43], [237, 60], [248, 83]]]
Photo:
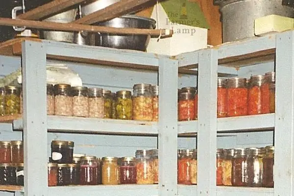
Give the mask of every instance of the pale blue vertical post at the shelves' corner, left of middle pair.
[[177, 195], [178, 61], [159, 59], [159, 196]]

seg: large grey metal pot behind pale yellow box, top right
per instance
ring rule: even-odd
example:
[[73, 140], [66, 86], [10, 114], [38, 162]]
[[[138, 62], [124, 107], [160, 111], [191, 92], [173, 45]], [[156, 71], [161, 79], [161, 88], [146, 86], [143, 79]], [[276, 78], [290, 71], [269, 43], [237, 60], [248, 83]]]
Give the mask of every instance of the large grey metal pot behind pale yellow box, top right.
[[293, 18], [293, 8], [283, 6], [282, 0], [214, 0], [220, 5], [222, 42], [254, 37], [254, 20], [276, 14]]

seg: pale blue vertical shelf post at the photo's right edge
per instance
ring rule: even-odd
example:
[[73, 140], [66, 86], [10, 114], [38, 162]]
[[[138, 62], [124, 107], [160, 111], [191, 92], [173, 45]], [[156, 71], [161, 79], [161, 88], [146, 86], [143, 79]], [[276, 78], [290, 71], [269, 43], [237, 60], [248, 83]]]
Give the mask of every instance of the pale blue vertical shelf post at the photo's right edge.
[[294, 196], [294, 31], [276, 35], [274, 196]]

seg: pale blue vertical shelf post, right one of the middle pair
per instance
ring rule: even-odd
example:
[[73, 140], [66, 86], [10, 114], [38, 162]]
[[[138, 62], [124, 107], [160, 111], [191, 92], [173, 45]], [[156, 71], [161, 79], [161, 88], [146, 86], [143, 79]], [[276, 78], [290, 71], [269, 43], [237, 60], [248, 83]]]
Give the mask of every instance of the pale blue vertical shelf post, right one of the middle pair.
[[216, 196], [218, 50], [199, 53], [197, 195]]

